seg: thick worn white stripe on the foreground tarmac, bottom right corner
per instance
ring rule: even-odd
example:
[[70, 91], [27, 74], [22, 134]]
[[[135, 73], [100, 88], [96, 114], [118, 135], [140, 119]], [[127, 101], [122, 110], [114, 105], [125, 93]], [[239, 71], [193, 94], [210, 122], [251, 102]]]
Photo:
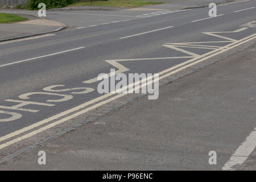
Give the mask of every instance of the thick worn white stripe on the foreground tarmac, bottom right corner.
[[251, 131], [250, 135], [245, 139], [245, 142], [241, 144], [231, 156], [229, 161], [222, 167], [222, 170], [233, 171], [233, 167], [237, 164], [242, 164], [249, 157], [251, 152], [254, 151], [256, 146], [256, 128]]

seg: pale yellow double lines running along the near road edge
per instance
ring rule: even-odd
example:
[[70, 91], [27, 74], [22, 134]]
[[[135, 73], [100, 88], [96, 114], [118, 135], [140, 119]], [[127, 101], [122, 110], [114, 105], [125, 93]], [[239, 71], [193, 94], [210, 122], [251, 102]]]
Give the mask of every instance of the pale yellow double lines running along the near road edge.
[[[185, 68], [191, 67], [192, 65], [195, 65], [195, 64], [197, 64], [197, 63], [200, 63], [201, 61], [207, 60], [207, 59], [209, 59], [210, 57], [216, 56], [216, 55], [218, 55], [218, 54], [220, 54], [220, 53], [222, 53], [222, 52], [225, 52], [225, 51], [227, 51], [227, 50], [229, 50], [229, 49], [232, 49], [232, 48], [234, 48], [234, 47], [240, 46], [241, 44], [246, 43], [246, 42], [249, 42], [250, 40], [253, 40], [253, 39], [255, 39], [255, 38], [256, 38], [256, 34], [247, 36], [246, 38], [237, 40], [236, 42], [233, 42], [233, 43], [231, 43], [231, 44], [228, 44], [228, 45], [224, 46], [225, 49], [224, 49], [224, 48], [220, 48], [220, 49], [214, 50], [213, 52], [215, 52], [215, 53], [213, 53], [213, 54], [210, 54], [210, 55], [209, 55], [209, 53], [207, 53], [208, 56], [201, 55], [201, 56], [199, 57], [199, 58], [200, 58], [199, 60], [197, 60], [197, 61], [195, 61], [195, 62], [193, 62], [193, 63], [191, 63], [191, 64], [188, 64], [188, 63], [191, 62], [192, 60], [188, 60], [188, 61], [185, 61], [184, 63], [179, 64], [179, 65], [175, 65], [174, 67], [168, 68], [168, 69], [166, 69], [166, 70], [164, 70], [164, 71], [162, 71], [162, 72], [159, 73], [159, 75], [163, 75], [164, 73], [166, 73], [165, 75], [159, 77], [159, 80], [161, 80], [161, 79], [164, 78], [164, 77], [173, 75], [173, 74], [175, 74], [176, 72], [179, 72], [179, 71], [181, 71], [181, 70], [183, 70], [183, 69], [185, 69]], [[195, 59], [197, 59], [197, 58], [198, 58], [198, 57], [193, 58], [193, 60], [195, 60]], [[183, 66], [183, 65], [184, 65], [184, 66]], [[178, 69], [176, 69], [176, 68], [178, 68]], [[172, 71], [173, 69], [176, 69], [176, 70]], [[172, 72], [170, 72], [170, 71], [172, 71]], [[150, 83], [150, 84], [151, 84], [151, 83]], [[138, 88], [137, 88], [137, 89], [138, 89]], [[97, 107], [99, 107], [99, 106], [101, 106], [101, 105], [104, 105], [104, 104], [106, 104], [106, 103], [108, 103], [108, 102], [111, 102], [111, 101], [113, 101], [113, 100], [116, 100], [117, 98], [122, 97], [122, 96], [124, 96], [125, 94], [127, 94], [127, 93], [122, 93], [122, 94], [119, 94], [119, 95], [114, 96], [114, 97], [112, 97], [112, 98], [109, 98], [108, 100], [99, 102], [99, 103], [96, 104], [96, 105], [90, 106], [90, 107], [88, 107], [88, 108], [86, 108], [86, 109], [84, 109], [84, 110], [81, 110], [81, 111], [79, 111], [79, 112], [77, 112], [77, 113], [75, 113], [75, 114], [69, 115], [68, 117], [65, 117], [65, 118], [63, 118], [63, 119], [60, 119], [59, 121], [55, 121], [55, 122], [53, 122], [53, 123], [51, 123], [51, 124], [49, 124], [49, 125], [46, 125], [46, 126], [40, 128], [40, 129], [38, 129], [38, 130], [32, 131], [31, 133], [22, 135], [21, 137], [18, 137], [18, 138], [15, 138], [15, 139], [13, 139], [13, 140], [10, 140], [9, 142], [3, 143], [3, 144], [0, 145], [0, 149], [1, 149], [1, 148], [5, 148], [5, 147], [7, 147], [7, 146], [10, 146], [11, 144], [14, 144], [14, 143], [16, 143], [16, 142], [19, 142], [19, 141], [21, 141], [21, 140], [23, 140], [23, 139], [30, 138], [30, 137], [32, 137], [33, 135], [36, 135], [36, 134], [38, 134], [38, 133], [41, 133], [42, 131], [45, 131], [45, 130], [47, 130], [47, 129], [50, 129], [50, 128], [53, 127], [53, 126], [59, 125], [60, 123], [63, 123], [63, 122], [65, 122], [65, 121], [68, 121], [69, 119], [75, 118], [75, 117], [77, 117], [78, 115], [84, 114], [84, 113], [86, 113], [86, 112], [89, 111], [89, 110], [95, 109], [95, 108], [97, 108]], [[100, 100], [102, 100], [102, 99], [104, 99], [104, 98], [107, 98], [107, 97], [109, 97], [109, 96], [112, 96], [112, 95], [113, 95], [112, 93], [105, 94], [104, 96], [95, 98], [94, 100], [91, 100], [91, 101], [88, 101], [88, 102], [85, 102], [84, 104], [81, 104], [80, 106], [73, 107], [72, 109], [69, 109], [69, 110], [67, 110], [67, 111], [64, 111], [63, 113], [60, 113], [60, 114], [57, 114], [57, 115], [53, 115], [52, 117], [47, 118], [47, 119], [44, 119], [44, 120], [42, 120], [42, 121], [40, 121], [40, 122], [34, 123], [33, 125], [30, 125], [30, 126], [28, 126], [28, 127], [24, 127], [23, 129], [20, 129], [20, 130], [17, 130], [17, 131], [14, 131], [14, 132], [11, 133], [11, 134], [7, 134], [7, 135], [5, 135], [5, 136], [3, 136], [3, 137], [0, 137], [0, 141], [9, 139], [9, 138], [11, 138], [11, 137], [15, 137], [16, 135], [22, 134], [22, 133], [24, 133], [25, 131], [34, 129], [35, 127], [38, 127], [38, 126], [40, 126], [40, 125], [43, 125], [44, 123], [48, 123], [48, 122], [50, 122], [50, 121], [53, 121], [54, 119], [63, 117], [64, 115], [67, 115], [68, 113], [72, 113], [73, 111], [80, 110], [80, 109], [82, 109], [83, 107], [85, 107], [85, 106], [87, 106], [87, 105], [94, 104], [94, 103], [96, 103], [96, 102], [98, 102], [98, 101], [100, 101]]]

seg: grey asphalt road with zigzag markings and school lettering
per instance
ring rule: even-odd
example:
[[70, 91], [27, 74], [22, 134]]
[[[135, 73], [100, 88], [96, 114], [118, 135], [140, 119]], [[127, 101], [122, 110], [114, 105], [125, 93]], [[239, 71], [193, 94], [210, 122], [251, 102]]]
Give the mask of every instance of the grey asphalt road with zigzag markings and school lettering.
[[1, 154], [121, 97], [97, 92], [97, 76], [111, 68], [159, 73], [161, 79], [253, 40], [255, 6], [253, 0], [218, 6], [213, 18], [208, 7], [140, 15], [106, 12], [98, 16], [109, 22], [0, 43]]

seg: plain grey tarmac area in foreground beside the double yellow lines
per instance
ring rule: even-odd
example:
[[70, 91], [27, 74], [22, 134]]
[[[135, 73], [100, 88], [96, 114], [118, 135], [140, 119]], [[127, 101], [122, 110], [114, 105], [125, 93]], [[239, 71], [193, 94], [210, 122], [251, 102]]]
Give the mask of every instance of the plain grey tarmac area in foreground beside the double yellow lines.
[[[0, 169], [221, 169], [256, 125], [255, 57], [256, 44], [160, 87], [158, 100], [139, 97]], [[37, 163], [40, 150], [46, 165]], [[208, 163], [212, 150], [217, 165]], [[255, 170], [256, 153], [249, 159], [243, 166]]]

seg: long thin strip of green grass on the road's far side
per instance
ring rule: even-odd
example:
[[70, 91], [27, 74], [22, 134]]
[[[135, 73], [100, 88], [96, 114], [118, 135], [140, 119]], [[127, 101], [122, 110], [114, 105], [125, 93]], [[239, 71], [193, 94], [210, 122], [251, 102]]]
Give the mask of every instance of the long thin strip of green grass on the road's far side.
[[69, 5], [69, 6], [111, 6], [111, 7], [139, 7], [139, 6], [146, 6], [146, 5], [156, 5], [162, 4], [164, 2], [158, 1], [138, 1], [138, 0], [111, 0], [111, 1], [90, 1], [85, 2], [77, 2], [76, 5]]

